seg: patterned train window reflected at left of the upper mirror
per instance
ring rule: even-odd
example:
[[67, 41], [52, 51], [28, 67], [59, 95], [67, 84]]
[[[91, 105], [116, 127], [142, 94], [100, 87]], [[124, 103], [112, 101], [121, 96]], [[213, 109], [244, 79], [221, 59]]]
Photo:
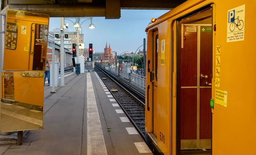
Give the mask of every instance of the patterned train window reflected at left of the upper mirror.
[[17, 24], [7, 22], [6, 24], [6, 36], [5, 36], [5, 48], [16, 49], [17, 46]]

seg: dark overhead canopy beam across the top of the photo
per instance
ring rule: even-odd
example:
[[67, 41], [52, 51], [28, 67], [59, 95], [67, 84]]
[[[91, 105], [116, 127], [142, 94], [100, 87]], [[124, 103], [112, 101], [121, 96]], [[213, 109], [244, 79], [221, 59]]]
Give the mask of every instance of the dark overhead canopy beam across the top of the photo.
[[51, 17], [120, 18], [120, 9], [170, 10], [185, 0], [1, 0], [6, 8], [49, 14]]

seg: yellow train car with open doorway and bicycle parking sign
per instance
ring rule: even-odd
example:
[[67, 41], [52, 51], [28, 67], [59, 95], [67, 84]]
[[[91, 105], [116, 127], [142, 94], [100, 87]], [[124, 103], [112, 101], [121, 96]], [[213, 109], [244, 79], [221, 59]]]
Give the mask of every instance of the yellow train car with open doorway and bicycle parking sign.
[[256, 154], [254, 14], [256, 1], [191, 0], [148, 25], [153, 152]]

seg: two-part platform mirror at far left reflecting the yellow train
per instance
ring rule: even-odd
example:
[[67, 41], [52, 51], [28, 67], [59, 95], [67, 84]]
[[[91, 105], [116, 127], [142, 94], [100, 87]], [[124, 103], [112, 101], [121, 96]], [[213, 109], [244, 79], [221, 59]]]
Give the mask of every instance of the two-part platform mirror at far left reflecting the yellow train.
[[1, 17], [0, 132], [43, 128], [49, 15], [11, 9], [1, 14], [6, 19]]

